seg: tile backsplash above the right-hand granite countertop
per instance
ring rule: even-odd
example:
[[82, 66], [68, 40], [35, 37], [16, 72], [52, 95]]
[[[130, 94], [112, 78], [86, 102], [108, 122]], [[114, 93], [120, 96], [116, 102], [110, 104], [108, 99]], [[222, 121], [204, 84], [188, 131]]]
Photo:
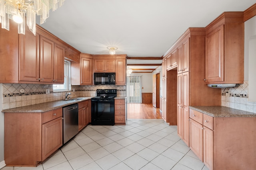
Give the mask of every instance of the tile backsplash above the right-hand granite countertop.
[[256, 113], [256, 103], [248, 102], [249, 82], [244, 81], [234, 88], [222, 88], [221, 106]]

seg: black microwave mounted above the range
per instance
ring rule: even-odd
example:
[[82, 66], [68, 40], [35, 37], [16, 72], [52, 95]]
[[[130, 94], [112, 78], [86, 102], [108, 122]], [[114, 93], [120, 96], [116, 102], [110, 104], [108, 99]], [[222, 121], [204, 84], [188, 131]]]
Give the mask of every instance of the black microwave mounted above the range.
[[116, 84], [115, 72], [94, 72], [94, 85]]

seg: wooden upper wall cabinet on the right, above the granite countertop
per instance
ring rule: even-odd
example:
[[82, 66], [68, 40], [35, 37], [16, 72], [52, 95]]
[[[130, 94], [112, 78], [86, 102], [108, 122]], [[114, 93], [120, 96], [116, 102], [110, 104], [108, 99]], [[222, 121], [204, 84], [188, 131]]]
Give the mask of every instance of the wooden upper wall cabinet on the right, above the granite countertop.
[[244, 82], [243, 12], [224, 12], [206, 26], [205, 82]]

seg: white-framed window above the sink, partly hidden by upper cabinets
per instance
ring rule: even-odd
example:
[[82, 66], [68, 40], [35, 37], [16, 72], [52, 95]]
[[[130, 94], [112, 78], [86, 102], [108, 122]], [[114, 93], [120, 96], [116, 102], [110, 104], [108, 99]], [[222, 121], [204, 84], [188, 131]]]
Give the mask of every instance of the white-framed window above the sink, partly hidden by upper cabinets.
[[71, 79], [70, 79], [70, 61], [64, 61], [64, 84], [54, 84], [53, 91], [68, 91], [71, 90]]

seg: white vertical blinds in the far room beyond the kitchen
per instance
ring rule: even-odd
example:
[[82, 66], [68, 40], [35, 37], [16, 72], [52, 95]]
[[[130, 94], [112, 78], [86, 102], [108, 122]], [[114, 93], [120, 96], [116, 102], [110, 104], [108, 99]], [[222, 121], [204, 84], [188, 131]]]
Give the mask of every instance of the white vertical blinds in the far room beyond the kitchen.
[[127, 103], [141, 103], [142, 76], [127, 76]]

